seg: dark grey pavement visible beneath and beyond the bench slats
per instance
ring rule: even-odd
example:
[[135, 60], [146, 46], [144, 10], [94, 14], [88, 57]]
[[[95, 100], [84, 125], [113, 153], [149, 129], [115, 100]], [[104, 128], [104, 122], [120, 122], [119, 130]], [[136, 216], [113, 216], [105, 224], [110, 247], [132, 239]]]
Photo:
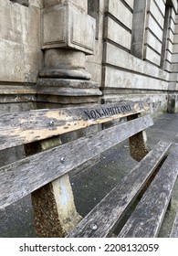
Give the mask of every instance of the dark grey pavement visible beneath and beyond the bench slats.
[[[178, 114], [162, 114], [147, 129], [148, 144], [152, 147], [160, 140], [178, 143]], [[110, 188], [136, 165], [129, 155], [128, 142], [113, 147], [100, 156], [100, 162], [71, 178], [76, 206], [85, 216]], [[178, 208], [178, 183], [174, 187], [171, 209], [163, 221], [160, 237], [168, 237]], [[16, 202], [0, 212], [0, 237], [35, 237], [30, 197]]]

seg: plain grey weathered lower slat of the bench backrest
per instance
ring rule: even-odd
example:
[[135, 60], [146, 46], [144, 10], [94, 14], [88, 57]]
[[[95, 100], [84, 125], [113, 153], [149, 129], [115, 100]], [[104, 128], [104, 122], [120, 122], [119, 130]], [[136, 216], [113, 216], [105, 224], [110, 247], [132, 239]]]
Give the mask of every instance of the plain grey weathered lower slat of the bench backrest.
[[1, 167], [0, 208], [25, 197], [151, 125], [151, 115], [144, 116]]

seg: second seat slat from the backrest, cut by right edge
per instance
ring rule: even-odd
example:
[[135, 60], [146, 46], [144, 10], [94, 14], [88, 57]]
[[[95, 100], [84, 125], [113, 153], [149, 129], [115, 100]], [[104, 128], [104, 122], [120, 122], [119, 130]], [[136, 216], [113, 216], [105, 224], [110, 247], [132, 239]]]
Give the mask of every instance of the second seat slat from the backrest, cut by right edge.
[[178, 174], [178, 146], [174, 150], [175, 154], [167, 157], [131, 218], [121, 230], [119, 237], [155, 238], [158, 236]]

